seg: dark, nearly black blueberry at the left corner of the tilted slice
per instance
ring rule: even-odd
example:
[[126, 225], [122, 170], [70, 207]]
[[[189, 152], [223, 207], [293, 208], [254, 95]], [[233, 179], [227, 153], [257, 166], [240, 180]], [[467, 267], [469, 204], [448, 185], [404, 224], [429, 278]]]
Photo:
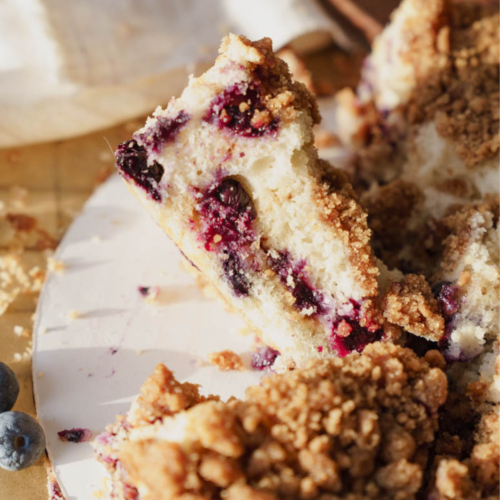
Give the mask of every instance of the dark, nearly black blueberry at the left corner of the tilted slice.
[[118, 145], [115, 153], [116, 168], [126, 179], [130, 179], [144, 189], [155, 201], [161, 201], [159, 182], [163, 177], [163, 167], [154, 162], [148, 165], [146, 150], [135, 141], [125, 141]]

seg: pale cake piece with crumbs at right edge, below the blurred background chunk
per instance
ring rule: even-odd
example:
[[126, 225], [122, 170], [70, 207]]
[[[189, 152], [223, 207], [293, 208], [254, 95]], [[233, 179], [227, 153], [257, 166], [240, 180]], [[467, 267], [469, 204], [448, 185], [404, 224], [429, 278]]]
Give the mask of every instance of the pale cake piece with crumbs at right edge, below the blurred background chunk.
[[472, 384], [477, 402], [500, 402], [498, 210], [494, 196], [443, 220], [449, 235], [433, 277], [446, 321], [444, 352], [459, 361], [450, 376], [462, 387]]

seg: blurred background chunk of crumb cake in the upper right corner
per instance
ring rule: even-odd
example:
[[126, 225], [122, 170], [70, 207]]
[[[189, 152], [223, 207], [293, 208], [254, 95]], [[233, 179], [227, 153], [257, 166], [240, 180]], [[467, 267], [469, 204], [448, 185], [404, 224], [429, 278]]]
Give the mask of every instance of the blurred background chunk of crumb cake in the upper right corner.
[[339, 133], [389, 267], [426, 272], [421, 235], [433, 219], [499, 191], [498, 25], [497, 2], [404, 0], [356, 94], [337, 98]]

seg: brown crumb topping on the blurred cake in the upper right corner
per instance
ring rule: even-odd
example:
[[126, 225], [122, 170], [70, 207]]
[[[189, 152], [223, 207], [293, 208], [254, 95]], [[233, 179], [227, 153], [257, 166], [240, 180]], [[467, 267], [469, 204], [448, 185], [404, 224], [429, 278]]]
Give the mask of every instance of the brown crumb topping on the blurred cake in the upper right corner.
[[455, 2], [443, 14], [447, 21], [433, 50], [425, 37], [415, 37], [414, 64], [425, 68], [417, 73], [408, 119], [435, 119], [438, 132], [452, 138], [466, 165], [474, 167], [499, 149], [498, 4]]

